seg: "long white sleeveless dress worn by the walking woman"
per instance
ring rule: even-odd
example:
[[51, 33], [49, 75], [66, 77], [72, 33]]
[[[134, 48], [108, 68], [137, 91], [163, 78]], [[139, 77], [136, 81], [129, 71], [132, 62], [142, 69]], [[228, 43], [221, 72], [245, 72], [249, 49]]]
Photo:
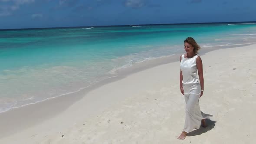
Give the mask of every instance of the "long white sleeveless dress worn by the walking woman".
[[202, 119], [212, 117], [212, 115], [200, 111], [201, 86], [197, 76], [197, 57], [196, 55], [193, 58], [185, 58], [184, 54], [181, 56], [182, 85], [186, 101], [186, 119], [183, 131], [187, 133], [199, 129]]

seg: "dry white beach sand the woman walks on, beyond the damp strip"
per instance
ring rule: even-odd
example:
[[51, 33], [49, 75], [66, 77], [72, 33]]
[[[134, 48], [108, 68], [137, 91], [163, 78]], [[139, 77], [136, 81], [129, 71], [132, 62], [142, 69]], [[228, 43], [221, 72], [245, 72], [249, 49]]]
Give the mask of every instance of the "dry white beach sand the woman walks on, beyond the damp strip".
[[13, 130], [0, 144], [254, 144], [255, 54], [251, 45], [201, 56], [200, 108], [213, 117], [183, 141], [177, 140], [185, 120], [180, 62], [172, 62], [96, 88], [58, 115]]

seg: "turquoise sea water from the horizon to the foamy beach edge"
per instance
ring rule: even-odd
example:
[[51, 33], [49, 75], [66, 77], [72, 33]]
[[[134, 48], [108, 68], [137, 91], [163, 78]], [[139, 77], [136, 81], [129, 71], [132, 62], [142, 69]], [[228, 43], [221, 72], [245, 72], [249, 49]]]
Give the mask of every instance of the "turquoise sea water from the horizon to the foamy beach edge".
[[253, 43], [256, 24], [0, 30], [0, 112], [78, 91], [136, 62], [180, 54], [188, 36], [202, 48]]

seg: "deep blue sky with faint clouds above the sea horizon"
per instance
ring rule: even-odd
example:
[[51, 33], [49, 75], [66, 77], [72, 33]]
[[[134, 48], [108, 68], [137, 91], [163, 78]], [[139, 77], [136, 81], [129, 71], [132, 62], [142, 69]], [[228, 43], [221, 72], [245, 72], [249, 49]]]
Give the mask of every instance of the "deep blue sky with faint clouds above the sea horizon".
[[0, 29], [256, 21], [256, 0], [0, 0]]

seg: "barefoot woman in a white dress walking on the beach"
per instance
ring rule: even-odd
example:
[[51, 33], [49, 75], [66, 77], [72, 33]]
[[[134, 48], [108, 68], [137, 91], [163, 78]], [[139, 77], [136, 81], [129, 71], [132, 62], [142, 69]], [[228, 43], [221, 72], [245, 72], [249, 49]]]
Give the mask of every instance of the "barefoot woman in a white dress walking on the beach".
[[197, 56], [200, 46], [192, 37], [188, 37], [184, 40], [184, 49], [187, 53], [180, 58], [180, 88], [186, 101], [186, 119], [184, 129], [177, 138], [181, 140], [185, 139], [187, 133], [199, 129], [201, 124], [206, 127], [205, 119], [212, 116], [201, 112], [199, 107], [199, 98], [203, 95], [203, 64], [200, 56]]

